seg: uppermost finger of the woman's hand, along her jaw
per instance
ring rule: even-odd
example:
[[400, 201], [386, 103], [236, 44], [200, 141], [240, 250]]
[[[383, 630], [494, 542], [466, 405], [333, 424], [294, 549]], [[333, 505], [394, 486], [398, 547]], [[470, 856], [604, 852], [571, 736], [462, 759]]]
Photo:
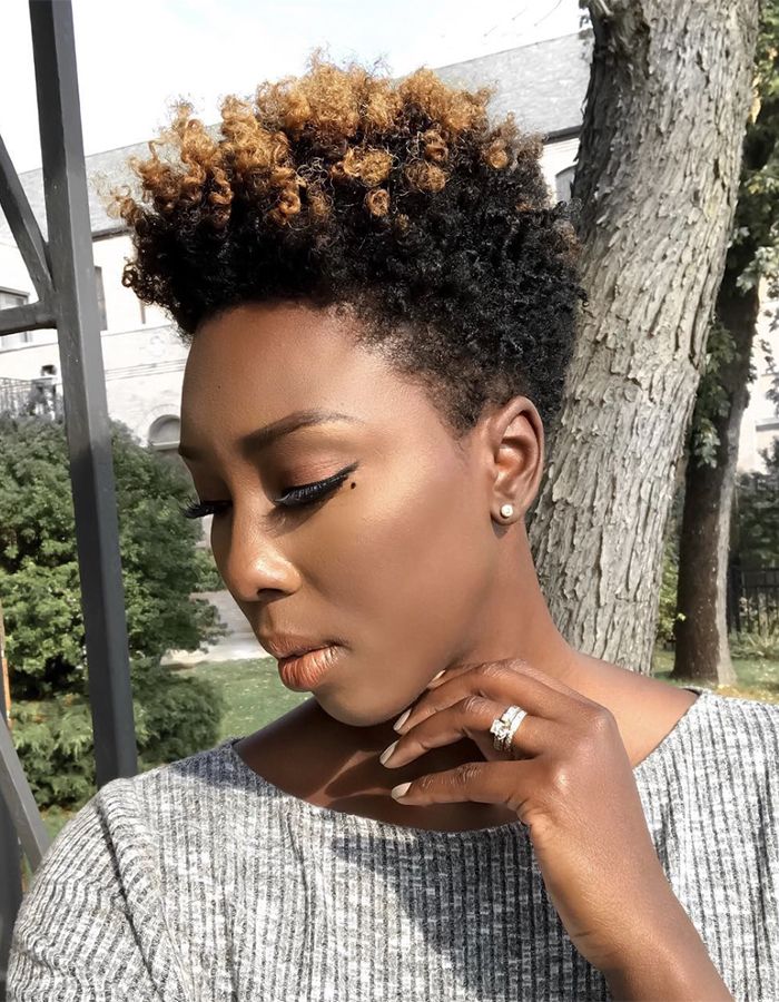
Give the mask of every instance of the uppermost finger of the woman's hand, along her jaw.
[[395, 730], [398, 734], [407, 734], [431, 714], [453, 706], [469, 694], [502, 703], [497, 716], [511, 705], [550, 720], [570, 721], [581, 715], [584, 703], [589, 700], [578, 700], [575, 697], [579, 694], [569, 696], [568, 692], [553, 688], [541, 680], [539, 674], [543, 675], [538, 672], [538, 669], [527, 670], [526, 666], [507, 660], [485, 661], [471, 666], [447, 681], [442, 679], [435, 688], [423, 692], [403, 724], [400, 727], [395, 724]]

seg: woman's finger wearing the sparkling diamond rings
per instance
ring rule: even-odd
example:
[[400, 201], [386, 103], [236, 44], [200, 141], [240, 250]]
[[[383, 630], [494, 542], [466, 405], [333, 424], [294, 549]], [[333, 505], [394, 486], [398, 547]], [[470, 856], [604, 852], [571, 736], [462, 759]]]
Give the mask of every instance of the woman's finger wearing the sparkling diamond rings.
[[[395, 769], [406, 765], [430, 752], [451, 745], [463, 737], [472, 740], [484, 739], [490, 735], [492, 721], [500, 717], [504, 707], [481, 696], [466, 696], [454, 706], [442, 709], [426, 717], [411, 730], [400, 737], [389, 747], [393, 752], [382, 764]], [[562, 739], [560, 725], [541, 717], [526, 716], [514, 731], [511, 752], [505, 752], [507, 759], [513, 756], [525, 758], [540, 755]]]

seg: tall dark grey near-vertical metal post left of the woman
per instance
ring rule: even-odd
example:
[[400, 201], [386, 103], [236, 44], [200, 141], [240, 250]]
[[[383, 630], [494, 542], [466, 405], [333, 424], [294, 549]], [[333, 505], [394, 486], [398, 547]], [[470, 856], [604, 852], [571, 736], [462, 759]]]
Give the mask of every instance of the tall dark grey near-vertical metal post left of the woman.
[[70, 0], [30, 0], [97, 784], [138, 772]]

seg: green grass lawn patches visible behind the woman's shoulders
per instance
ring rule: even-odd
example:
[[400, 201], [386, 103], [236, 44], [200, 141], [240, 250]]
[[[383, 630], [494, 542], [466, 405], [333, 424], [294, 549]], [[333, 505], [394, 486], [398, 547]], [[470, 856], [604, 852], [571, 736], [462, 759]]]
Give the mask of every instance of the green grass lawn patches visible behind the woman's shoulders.
[[[766, 659], [733, 660], [738, 675], [738, 686], [721, 687], [717, 691], [723, 696], [741, 696], [747, 699], [762, 699], [779, 703], [779, 661]], [[654, 676], [665, 681], [673, 668], [673, 652], [655, 650]], [[218, 741], [228, 737], [243, 736], [258, 730], [276, 717], [308, 699], [309, 692], [293, 692], [282, 685], [273, 658], [241, 661], [213, 661], [180, 668], [180, 678], [198, 676], [216, 682], [225, 695], [227, 710], [219, 727]], [[674, 685], [686, 685], [682, 679]], [[58, 808], [43, 813], [43, 821], [53, 838], [72, 812]]]

